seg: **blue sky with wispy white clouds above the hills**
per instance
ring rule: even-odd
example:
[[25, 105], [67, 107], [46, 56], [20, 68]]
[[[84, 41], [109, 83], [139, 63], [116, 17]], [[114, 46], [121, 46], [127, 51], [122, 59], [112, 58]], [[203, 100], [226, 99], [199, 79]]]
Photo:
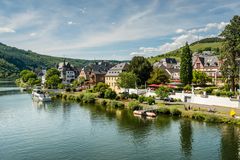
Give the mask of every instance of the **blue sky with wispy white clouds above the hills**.
[[218, 36], [239, 0], [0, 0], [0, 42], [40, 54], [129, 60]]

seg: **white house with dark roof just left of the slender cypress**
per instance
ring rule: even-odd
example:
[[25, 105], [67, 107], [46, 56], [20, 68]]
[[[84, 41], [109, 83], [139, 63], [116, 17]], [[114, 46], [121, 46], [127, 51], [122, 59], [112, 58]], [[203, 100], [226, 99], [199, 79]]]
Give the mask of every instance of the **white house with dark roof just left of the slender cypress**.
[[164, 58], [153, 64], [154, 68], [161, 68], [172, 80], [180, 79], [180, 63], [175, 58]]

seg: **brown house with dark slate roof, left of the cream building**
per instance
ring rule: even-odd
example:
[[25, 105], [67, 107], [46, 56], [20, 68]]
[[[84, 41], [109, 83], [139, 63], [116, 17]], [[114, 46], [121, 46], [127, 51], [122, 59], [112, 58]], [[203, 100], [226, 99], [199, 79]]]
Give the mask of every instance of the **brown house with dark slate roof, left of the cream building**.
[[113, 65], [109, 62], [100, 61], [89, 64], [81, 69], [79, 79], [84, 78], [85, 84], [96, 85], [98, 82], [105, 82], [105, 75]]

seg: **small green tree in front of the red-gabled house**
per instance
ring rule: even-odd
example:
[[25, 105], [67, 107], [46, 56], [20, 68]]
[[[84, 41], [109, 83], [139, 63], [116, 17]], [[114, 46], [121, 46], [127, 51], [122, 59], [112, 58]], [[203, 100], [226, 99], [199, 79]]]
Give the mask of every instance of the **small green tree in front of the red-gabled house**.
[[212, 79], [205, 73], [201, 71], [193, 71], [193, 79], [192, 82], [198, 85], [206, 85], [207, 82], [211, 82]]

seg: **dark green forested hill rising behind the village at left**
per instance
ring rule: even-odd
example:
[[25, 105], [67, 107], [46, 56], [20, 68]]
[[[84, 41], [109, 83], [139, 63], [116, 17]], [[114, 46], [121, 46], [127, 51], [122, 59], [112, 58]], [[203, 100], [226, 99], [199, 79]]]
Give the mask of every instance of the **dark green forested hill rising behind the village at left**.
[[[32, 51], [25, 51], [0, 43], [0, 79], [14, 79], [18, 77], [19, 72], [23, 69], [38, 71], [43, 67], [55, 67], [63, 60], [63, 57], [41, 55]], [[81, 68], [94, 62], [91, 60], [72, 58], [66, 58], [66, 61], [70, 62], [77, 68]]]

